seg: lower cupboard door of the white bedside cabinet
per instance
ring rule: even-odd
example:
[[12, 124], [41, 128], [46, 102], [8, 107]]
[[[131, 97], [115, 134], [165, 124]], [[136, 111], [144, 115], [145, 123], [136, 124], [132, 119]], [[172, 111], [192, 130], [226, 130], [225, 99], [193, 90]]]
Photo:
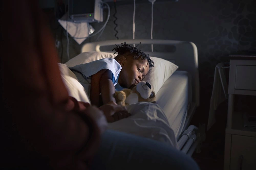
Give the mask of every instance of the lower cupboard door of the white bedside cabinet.
[[251, 170], [256, 167], [256, 138], [232, 135], [230, 169]]

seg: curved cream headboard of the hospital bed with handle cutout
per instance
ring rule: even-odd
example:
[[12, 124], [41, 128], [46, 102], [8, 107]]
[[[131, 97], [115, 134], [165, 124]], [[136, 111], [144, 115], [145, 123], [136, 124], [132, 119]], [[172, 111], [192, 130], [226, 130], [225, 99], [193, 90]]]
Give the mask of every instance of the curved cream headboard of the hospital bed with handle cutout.
[[[199, 75], [198, 75], [198, 56], [197, 56], [197, 47], [192, 42], [186, 41], [174, 41], [174, 40], [147, 40], [147, 39], [136, 39], [136, 40], [107, 40], [107, 41], [98, 41], [84, 44], [81, 48], [81, 53], [90, 52], [90, 51], [103, 51], [111, 52], [111, 50], [116, 45], [121, 45], [121, 43], [126, 42], [127, 44], [153, 44], [159, 47], [159, 45], [169, 45], [173, 50], [167, 50], [168, 52], [151, 52], [144, 51], [146, 54], [149, 54], [152, 57], [159, 57], [170, 62], [175, 63], [179, 66], [178, 70], [184, 70], [191, 74], [192, 76], [192, 89], [193, 89], [193, 102], [196, 106], [199, 106]], [[161, 48], [163, 49], [163, 48]], [[161, 50], [158, 50], [161, 51]], [[163, 50], [164, 51], [164, 50]], [[111, 52], [112, 53], [112, 52]]]

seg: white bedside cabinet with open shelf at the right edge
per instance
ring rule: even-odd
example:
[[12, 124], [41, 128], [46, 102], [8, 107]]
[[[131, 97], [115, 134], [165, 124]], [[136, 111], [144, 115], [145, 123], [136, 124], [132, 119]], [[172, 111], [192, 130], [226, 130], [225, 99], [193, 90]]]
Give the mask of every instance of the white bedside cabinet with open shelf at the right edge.
[[233, 108], [235, 95], [256, 96], [256, 54], [242, 53], [229, 57], [224, 170], [251, 170], [256, 167], [256, 128], [244, 127], [243, 113], [236, 113]]

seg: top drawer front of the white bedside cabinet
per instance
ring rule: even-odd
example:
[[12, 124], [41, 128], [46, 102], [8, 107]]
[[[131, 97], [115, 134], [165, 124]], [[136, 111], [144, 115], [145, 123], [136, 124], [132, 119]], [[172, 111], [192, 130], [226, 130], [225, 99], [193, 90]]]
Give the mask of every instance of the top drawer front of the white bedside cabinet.
[[256, 66], [236, 66], [235, 89], [256, 90]]

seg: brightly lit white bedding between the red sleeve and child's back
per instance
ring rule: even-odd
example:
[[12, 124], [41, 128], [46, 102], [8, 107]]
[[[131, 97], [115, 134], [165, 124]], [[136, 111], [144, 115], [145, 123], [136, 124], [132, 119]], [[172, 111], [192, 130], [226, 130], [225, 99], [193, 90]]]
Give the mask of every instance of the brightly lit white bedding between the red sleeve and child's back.
[[60, 69], [60, 75], [67, 88], [68, 95], [72, 96], [77, 101], [91, 103], [85, 89], [78, 81], [76, 75], [67, 67], [66, 64], [58, 63], [58, 65]]

